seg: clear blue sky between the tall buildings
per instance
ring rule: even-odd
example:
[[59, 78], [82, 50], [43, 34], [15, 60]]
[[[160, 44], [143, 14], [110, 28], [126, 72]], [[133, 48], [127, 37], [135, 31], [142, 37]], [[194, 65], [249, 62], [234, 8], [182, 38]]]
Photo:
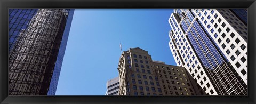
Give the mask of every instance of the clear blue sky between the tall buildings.
[[122, 51], [140, 47], [176, 65], [169, 48], [172, 9], [75, 9], [56, 95], [105, 95]]

